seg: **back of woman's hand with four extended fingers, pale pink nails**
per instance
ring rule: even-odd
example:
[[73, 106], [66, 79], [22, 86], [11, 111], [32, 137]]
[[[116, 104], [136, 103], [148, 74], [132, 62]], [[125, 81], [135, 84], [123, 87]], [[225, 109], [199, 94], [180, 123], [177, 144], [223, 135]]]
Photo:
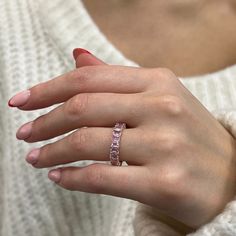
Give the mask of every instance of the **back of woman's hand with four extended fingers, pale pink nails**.
[[10, 101], [25, 111], [58, 103], [17, 132], [32, 143], [75, 130], [30, 152], [26, 159], [36, 168], [109, 161], [113, 126], [128, 126], [120, 143], [120, 160], [128, 166], [51, 170], [61, 187], [137, 200], [194, 228], [234, 197], [235, 140], [171, 71], [84, 66]]

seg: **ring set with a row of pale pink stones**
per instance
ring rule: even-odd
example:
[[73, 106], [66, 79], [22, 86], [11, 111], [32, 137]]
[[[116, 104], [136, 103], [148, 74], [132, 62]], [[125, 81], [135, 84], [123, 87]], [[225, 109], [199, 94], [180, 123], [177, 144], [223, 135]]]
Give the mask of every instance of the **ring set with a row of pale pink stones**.
[[112, 143], [110, 147], [110, 162], [113, 166], [121, 166], [122, 161], [119, 160], [120, 137], [123, 129], [126, 128], [125, 123], [118, 122], [112, 130]]

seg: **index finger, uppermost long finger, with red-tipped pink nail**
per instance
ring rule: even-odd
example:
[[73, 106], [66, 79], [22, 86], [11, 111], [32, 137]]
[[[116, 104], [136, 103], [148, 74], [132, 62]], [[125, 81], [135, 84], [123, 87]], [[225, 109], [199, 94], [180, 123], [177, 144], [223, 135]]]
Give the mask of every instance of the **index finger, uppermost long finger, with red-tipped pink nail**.
[[143, 92], [150, 84], [145, 72], [138, 67], [84, 66], [31, 87], [27, 100], [21, 99], [23, 104], [17, 103], [22, 94], [11, 98], [9, 103], [12, 106], [17, 103], [21, 110], [35, 110], [65, 102], [78, 93]]

